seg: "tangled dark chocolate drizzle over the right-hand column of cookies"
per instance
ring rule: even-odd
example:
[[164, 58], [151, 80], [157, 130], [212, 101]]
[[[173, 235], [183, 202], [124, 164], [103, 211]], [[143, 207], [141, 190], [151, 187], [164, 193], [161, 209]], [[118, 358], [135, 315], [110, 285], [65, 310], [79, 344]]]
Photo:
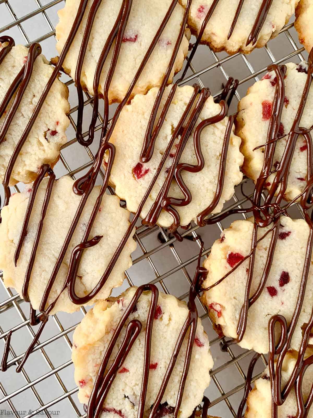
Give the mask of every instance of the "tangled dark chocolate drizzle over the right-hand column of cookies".
[[[237, 324], [237, 338], [231, 339], [228, 341], [225, 346], [227, 347], [230, 344], [234, 344], [236, 342], [240, 342], [242, 337], [244, 336], [246, 325], [247, 325], [247, 316], [249, 307], [257, 300], [257, 298], [262, 293], [263, 289], [265, 288], [266, 281], [268, 279], [268, 275], [270, 273], [270, 268], [272, 265], [272, 260], [275, 252], [276, 243], [278, 240], [278, 233], [280, 227], [280, 217], [282, 215], [287, 215], [285, 209], [280, 208], [280, 204], [282, 202], [283, 196], [285, 194], [287, 183], [288, 183], [288, 174], [290, 171], [290, 164], [293, 158], [293, 154], [295, 151], [296, 141], [300, 134], [303, 134], [305, 138], [305, 142], [308, 145], [307, 147], [307, 181], [306, 186], [303, 192], [300, 194], [300, 206], [303, 210], [305, 222], [308, 224], [309, 227], [309, 234], [308, 240], [306, 243], [306, 250], [305, 250], [305, 261], [303, 265], [302, 271], [302, 278], [300, 281], [299, 293], [297, 298], [297, 303], [295, 306], [295, 310], [293, 312], [292, 319], [290, 324], [287, 324], [287, 321], [284, 316], [282, 315], [273, 315], [270, 318], [268, 323], [268, 336], [269, 336], [269, 372], [270, 372], [270, 383], [271, 383], [271, 391], [272, 391], [272, 418], [278, 417], [278, 406], [283, 405], [288, 394], [294, 388], [295, 390], [295, 398], [297, 404], [297, 418], [305, 418], [308, 414], [308, 410], [313, 401], [313, 385], [310, 389], [310, 393], [306, 402], [303, 400], [302, 394], [302, 381], [303, 376], [305, 374], [306, 369], [310, 364], [313, 364], [313, 355], [304, 359], [305, 351], [308, 347], [308, 341], [310, 337], [310, 331], [313, 327], [313, 307], [310, 314], [310, 318], [308, 323], [305, 325], [303, 329], [303, 337], [301, 340], [300, 348], [298, 350], [298, 357], [295, 363], [295, 367], [291, 372], [290, 377], [285, 385], [282, 387], [282, 368], [283, 368], [283, 360], [285, 359], [285, 355], [287, 354], [288, 350], [290, 349], [290, 342], [293, 337], [296, 324], [298, 322], [301, 308], [303, 305], [303, 300], [305, 296], [305, 288], [306, 283], [308, 280], [308, 272], [310, 268], [310, 260], [312, 257], [312, 248], [313, 248], [313, 214], [309, 215], [308, 211], [312, 208], [313, 205], [313, 172], [312, 172], [312, 137], [310, 134], [310, 129], [306, 129], [300, 126], [300, 120], [303, 115], [303, 110], [305, 108], [305, 103], [308, 97], [308, 92], [312, 83], [312, 75], [313, 75], [313, 49], [311, 50], [308, 58], [308, 74], [305, 82], [305, 86], [303, 88], [303, 92], [301, 94], [300, 103], [298, 106], [298, 110], [295, 115], [295, 119], [293, 121], [293, 125], [291, 127], [290, 132], [286, 138], [286, 145], [281, 157], [281, 160], [275, 169], [274, 173], [274, 180], [268, 191], [268, 196], [265, 199], [264, 205], [261, 206], [261, 193], [265, 186], [265, 182], [267, 181], [268, 176], [273, 173], [273, 157], [275, 153], [276, 142], [278, 138], [278, 130], [280, 126], [281, 114], [283, 110], [283, 101], [285, 97], [285, 83], [284, 77], [286, 74], [286, 66], [277, 66], [271, 65], [268, 67], [269, 71], [274, 71], [275, 76], [277, 78], [277, 83], [275, 85], [275, 95], [273, 100], [273, 108], [272, 114], [270, 117], [270, 122], [268, 126], [268, 133], [267, 133], [267, 140], [264, 145], [264, 161], [263, 161], [263, 168], [261, 170], [260, 176], [258, 177], [255, 190], [253, 194], [253, 198], [250, 199], [252, 203], [252, 207], [249, 209], [245, 209], [245, 212], [253, 212], [254, 215], [254, 227], [252, 233], [252, 240], [251, 240], [251, 251], [250, 253], [244, 258], [246, 260], [249, 258], [249, 268], [248, 268], [248, 278], [247, 284], [245, 289], [245, 298], [244, 303], [242, 305], [240, 311], [240, 317]], [[275, 194], [277, 196], [275, 197]], [[298, 196], [299, 197], [299, 196]], [[272, 203], [273, 202], [273, 203]], [[287, 205], [287, 206], [290, 206]], [[272, 212], [271, 212], [272, 210]], [[235, 210], [231, 213], [241, 213], [241, 210]], [[221, 220], [225, 218], [230, 212], [223, 214], [222, 216], [217, 216], [208, 221], [208, 223], [216, 222], [216, 220]], [[287, 215], [288, 216], [288, 215]], [[264, 228], [270, 226], [270, 229], [263, 234], [257, 240], [257, 232], [259, 228]], [[268, 246], [267, 258], [265, 261], [265, 266], [263, 269], [262, 276], [260, 278], [260, 282], [257, 286], [257, 290], [255, 293], [250, 296], [250, 288], [252, 284], [252, 276], [254, 271], [254, 264], [255, 264], [255, 250], [257, 247], [257, 243], [262, 240], [266, 234], [271, 233], [270, 238], [270, 245]], [[242, 262], [244, 261], [242, 260]], [[238, 267], [242, 262], [238, 263], [235, 268]], [[232, 273], [235, 268], [230, 270], [226, 275], [224, 275], [218, 282], [214, 283], [210, 286], [212, 288], [215, 285], [218, 285], [222, 282], [230, 273]], [[209, 290], [210, 288], [202, 289], [202, 290]], [[275, 345], [276, 341], [276, 332], [275, 332], [275, 325], [279, 325], [280, 329], [280, 336], [278, 344]], [[274, 359], [276, 358], [276, 365], [274, 366]], [[242, 410], [247, 400], [248, 392], [247, 387], [250, 386], [253, 364], [256, 361], [256, 357], [252, 359], [252, 363], [250, 364], [248, 370], [248, 377], [247, 377], [247, 384], [244, 397], [242, 399], [242, 403], [240, 405], [240, 409], [238, 410], [237, 417], [241, 417]]]

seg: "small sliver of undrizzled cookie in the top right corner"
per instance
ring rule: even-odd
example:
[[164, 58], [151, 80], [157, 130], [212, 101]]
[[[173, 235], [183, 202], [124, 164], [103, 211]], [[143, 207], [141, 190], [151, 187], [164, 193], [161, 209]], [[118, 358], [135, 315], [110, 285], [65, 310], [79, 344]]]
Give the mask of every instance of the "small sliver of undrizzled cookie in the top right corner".
[[295, 29], [299, 34], [299, 41], [310, 52], [313, 47], [313, 1], [300, 0], [295, 16]]

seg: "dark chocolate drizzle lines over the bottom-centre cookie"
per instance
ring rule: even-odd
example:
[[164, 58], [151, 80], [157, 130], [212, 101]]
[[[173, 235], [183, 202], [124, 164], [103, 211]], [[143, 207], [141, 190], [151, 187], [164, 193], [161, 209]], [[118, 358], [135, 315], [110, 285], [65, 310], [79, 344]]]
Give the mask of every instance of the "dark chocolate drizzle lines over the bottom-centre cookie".
[[[185, 386], [186, 379], [187, 379], [187, 374], [189, 371], [192, 348], [194, 345], [194, 338], [195, 338], [196, 329], [197, 329], [198, 312], [197, 312], [197, 307], [195, 304], [195, 299], [197, 297], [197, 294], [199, 293], [199, 289], [201, 288], [201, 283], [203, 282], [207, 274], [207, 271], [203, 267], [200, 267], [202, 250], [203, 250], [203, 242], [202, 242], [201, 249], [199, 252], [196, 272], [195, 272], [195, 275], [194, 275], [194, 278], [192, 280], [192, 284], [189, 290], [188, 316], [177, 338], [177, 342], [175, 344], [172, 357], [169, 361], [169, 365], [167, 367], [164, 378], [162, 380], [159, 393], [156, 396], [156, 400], [154, 401], [153, 406], [151, 407], [151, 412], [149, 415], [150, 418], [156, 416], [157, 410], [162, 402], [162, 398], [164, 396], [166, 387], [169, 383], [169, 379], [173, 372], [178, 354], [182, 347], [182, 343], [190, 328], [189, 336], [188, 336], [188, 344], [187, 344], [185, 360], [184, 360], [184, 368], [182, 371], [181, 380], [179, 382], [179, 390], [177, 394], [177, 400], [176, 400], [176, 405], [174, 408], [173, 417], [177, 418], [178, 413], [179, 413], [179, 408], [182, 403], [182, 395], [183, 395], [184, 386]], [[91, 392], [89, 402], [88, 402], [88, 407], [87, 407], [87, 418], [98, 418], [100, 416], [103, 403], [106, 399], [106, 395], [108, 394], [110, 390], [110, 387], [113, 383], [116, 373], [118, 372], [121, 365], [124, 363], [124, 360], [126, 359], [131, 347], [133, 346], [137, 336], [139, 335], [141, 331], [142, 324], [140, 321], [135, 320], [135, 319], [129, 321], [129, 324], [127, 325], [127, 328], [126, 328], [126, 334], [125, 334], [124, 340], [121, 343], [121, 346], [119, 348], [119, 351], [116, 354], [116, 357], [114, 358], [112, 366], [106, 372], [110, 356], [112, 354], [115, 344], [117, 343], [117, 339], [121, 333], [121, 330], [125, 326], [127, 319], [129, 319], [130, 314], [132, 313], [134, 307], [136, 306], [137, 301], [139, 300], [141, 294], [144, 291], [151, 292], [151, 303], [149, 306], [149, 312], [148, 312], [147, 321], [146, 321], [144, 367], [143, 367], [141, 393], [139, 397], [137, 417], [143, 418], [144, 416], [144, 406], [146, 402], [146, 392], [147, 392], [148, 380], [149, 380], [151, 338], [152, 338], [152, 331], [153, 331], [154, 314], [156, 311], [156, 306], [157, 306], [158, 296], [159, 296], [159, 291], [157, 287], [153, 284], [141, 285], [136, 290], [136, 293], [131, 299], [129, 306], [126, 308], [124, 315], [121, 317], [119, 324], [114, 331], [114, 334], [103, 356], [103, 360], [101, 362], [98, 375], [93, 385], [93, 390]], [[208, 408], [208, 401], [205, 401], [204, 410], [205, 409], [207, 410], [207, 408]]]

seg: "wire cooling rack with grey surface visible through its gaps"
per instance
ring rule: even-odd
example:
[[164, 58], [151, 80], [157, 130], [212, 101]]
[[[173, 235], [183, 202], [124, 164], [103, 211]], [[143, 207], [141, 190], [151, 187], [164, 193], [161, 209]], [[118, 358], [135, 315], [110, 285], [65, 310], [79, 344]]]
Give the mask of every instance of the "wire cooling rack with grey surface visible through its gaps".
[[[39, 42], [43, 53], [50, 59], [56, 55], [55, 25], [58, 22], [57, 10], [64, 7], [63, 0], [0, 0], [0, 33], [6, 33], [15, 38], [16, 43], [28, 46], [31, 42]], [[201, 87], [209, 87], [212, 94], [218, 94], [222, 83], [233, 76], [240, 80], [235, 99], [230, 107], [230, 113], [235, 112], [237, 101], [245, 94], [247, 88], [259, 79], [271, 63], [299, 62], [307, 58], [298, 43], [298, 36], [293, 23], [286, 25], [279, 36], [271, 40], [264, 48], [253, 51], [250, 55], [225, 53], [215, 54], [207, 46], [199, 46], [190, 64], [185, 79], [181, 84], [193, 84], [195, 81]], [[177, 75], [179, 78], [179, 74]], [[68, 128], [68, 143], [61, 150], [61, 158], [56, 165], [57, 176], [68, 174], [73, 178], [81, 176], [91, 166], [96, 153], [97, 137], [90, 147], [81, 147], [75, 139], [77, 96], [73, 80], [65, 74], [62, 81], [66, 82], [70, 91], [71, 110], [68, 114], [71, 125]], [[88, 121], [92, 111], [92, 98], [86, 94], [84, 121], [87, 135]], [[111, 114], [115, 106], [111, 106]], [[101, 109], [96, 127], [99, 136], [102, 118]], [[73, 138], [73, 139], [71, 139]], [[99, 139], [99, 138], [98, 138]], [[99, 183], [103, 172], [99, 175]], [[252, 192], [252, 182], [246, 182], [245, 192]], [[23, 185], [15, 186], [20, 191]], [[235, 195], [228, 202], [224, 211], [229, 208], [247, 205], [246, 198], [237, 186]], [[109, 189], [109, 193], [114, 190]], [[3, 200], [2, 200], [3, 201]], [[124, 206], [125, 202], [121, 201]], [[297, 205], [289, 209], [293, 217], [302, 217]], [[245, 215], [243, 215], [245, 217]], [[177, 242], [166, 230], [160, 227], [148, 229], [138, 225], [135, 240], [138, 244], [133, 253], [133, 266], [126, 271], [126, 280], [121, 288], [114, 289], [116, 296], [128, 286], [142, 283], [156, 283], [161, 291], [172, 293], [179, 299], [187, 298], [189, 285], [194, 274], [200, 242], [200, 234], [204, 240], [203, 257], [210, 253], [210, 247], [225, 227], [236, 217], [227, 218], [217, 225], [199, 229], [192, 226], [182, 231], [186, 237], [183, 242]], [[238, 217], [237, 217], [238, 218]], [[50, 318], [33, 353], [25, 363], [20, 374], [15, 368], [22, 359], [25, 350], [37, 331], [31, 327], [28, 319], [28, 304], [12, 290], [3, 285], [2, 274], [0, 285], [0, 353], [3, 351], [5, 338], [12, 329], [13, 336], [10, 346], [8, 365], [13, 364], [7, 372], [0, 374], [0, 416], [45, 417], [85, 417], [83, 406], [78, 402], [78, 388], [73, 379], [73, 364], [71, 362], [72, 335], [75, 327], [86, 314], [81, 308], [75, 314], [59, 313]], [[220, 338], [212, 329], [207, 311], [200, 301], [197, 301], [199, 316], [210, 338], [212, 356], [215, 360], [211, 372], [212, 381], [207, 389], [211, 401], [209, 413], [223, 418], [236, 415], [245, 384], [245, 371], [253, 352], [232, 346], [226, 353], [220, 351]], [[266, 358], [261, 357], [255, 368], [254, 379], [264, 369]]]

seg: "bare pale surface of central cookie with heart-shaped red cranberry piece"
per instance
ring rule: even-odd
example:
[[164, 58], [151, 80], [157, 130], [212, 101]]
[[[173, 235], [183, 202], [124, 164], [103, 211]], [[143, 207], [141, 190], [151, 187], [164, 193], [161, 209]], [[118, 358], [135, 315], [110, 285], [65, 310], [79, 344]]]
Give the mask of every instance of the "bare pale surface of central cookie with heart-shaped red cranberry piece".
[[[171, 86], [167, 87], [164, 92], [156, 120], [158, 120], [170, 90]], [[156, 138], [154, 153], [151, 160], [147, 163], [139, 163], [139, 157], [146, 126], [158, 89], [151, 89], [145, 96], [136, 95], [131, 104], [124, 107], [121, 111], [121, 115], [111, 137], [111, 142], [116, 146], [116, 157], [111, 171], [110, 181], [115, 186], [116, 194], [121, 199], [126, 200], [127, 208], [130, 212], [136, 212], [138, 209], [139, 203], [151, 183], [162, 155], [174, 132], [174, 128], [178, 125], [193, 91], [194, 89], [191, 86], [177, 87], [167, 116]], [[213, 97], [209, 97], [200, 113], [196, 126], [202, 120], [220, 113], [220, 109], [220, 104], [214, 103]], [[201, 149], [204, 155], [204, 168], [198, 173], [182, 171], [182, 178], [192, 194], [192, 201], [189, 205], [182, 207], [175, 206], [175, 209], [179, 212], [181, 225], [183, 226], [189, 224], [192, 219], [195, 220], [197, 215], [209, 206], [215, 195], [220, 166], [220, 153], [227, 122], [228, 118], [225, 117], [221, 122], [207, 126], [202, 130]], [[187, 121], [184, 125], [186, 123]], [[181, 163], [197, 164], [194, 153], [193, 133], [194, 130], [182, 153]], [[167, 161], [165, 161], [162, 171], [156, 180], [156, 184], [141, 211], [141, 217], [143, 218], [149, 212], [151, 205], [166, 180], [166, 171], [172, 163], [171, 155], [174, 155], [179, 139], [180, 135], [175, 140], [171, 153]], [[243, 157], [239, 151], [239, 146], [240, 138], [232, 133], [227, 153], [224, 188], [220, 201], [212, 213], [218, 213], [222, 210], [225, 201], [229, 200], [234, 194], [234, 186], [242, 180], [240, 166]], [[184, 197], [177, 183], [174, 183], [174, 181], [169, 189], [168, 196]], [[162, 210], [158, 224], [163, 227], [169, 227], [172, 222], [172, 216]]]

